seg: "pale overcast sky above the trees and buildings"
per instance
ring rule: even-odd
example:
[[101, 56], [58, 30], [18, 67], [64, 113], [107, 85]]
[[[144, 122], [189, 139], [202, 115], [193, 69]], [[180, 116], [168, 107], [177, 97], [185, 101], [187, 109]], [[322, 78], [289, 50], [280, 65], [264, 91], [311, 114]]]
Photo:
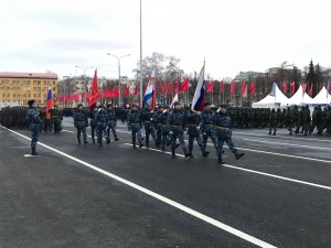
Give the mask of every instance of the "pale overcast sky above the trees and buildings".
[[[132, 77], [139, 60], [139, 0], [3, 0], [0, 72], [55, 72]], [[302, 68], [312, 58], [331, 66], [329, 0], [142, 0], [143, 56], [181, 60], [185, 72], [215, 79], [265, 72], [287, 61]], [[87, 71], [93, 75], [93, 69]]]

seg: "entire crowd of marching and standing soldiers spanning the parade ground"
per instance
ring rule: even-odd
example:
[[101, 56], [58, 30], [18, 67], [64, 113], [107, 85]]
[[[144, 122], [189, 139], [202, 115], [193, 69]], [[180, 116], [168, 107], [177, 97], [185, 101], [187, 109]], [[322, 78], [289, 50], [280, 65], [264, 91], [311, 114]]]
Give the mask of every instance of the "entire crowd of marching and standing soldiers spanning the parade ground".
[[[202, 157], [207, 157], [207, 139], [211, 139], [220, 163], [222, 159], [223, 144], [226, 142], [231, 151], [239, 159], [244, 153], [239, 153], [232, 141], [232, 128], [269, 128], [268, 134], [276, 136], [278, 128], [287, 128], [289, 134], [303, 133], [308, 136], [317, 128], [317, 133], [331, 134], [331, 106], [316, 106], [310, 112], [309, 106], [288, 107], [282, 110], [269, 108], [227, 108], [225, 104], [220, 108], [212, 108], [210, 103], [204, 104], [202, 111], [192, 111], [183, 108], [181, 104], [174, 103], [173, 107], [159, 106], [157, 109], [146, 107], [140, 109], [137, 105], [131, 108], [114, 108], [113, 105], [98, 106], [94, 110], [83, 108], [78, 105], [76, 109], [60, 109], [54, 106], [46, 115], [45, 108], [36, 108], [34, 101], [29, 101], [26, 107], [7, 107], [0, 110], [0, 122], [7, 128], [30, 127], [32, 131], [31, 149], [32, 154], [36, 154], [35, 144], [38, 134], [60, 133], [62, 130], [63, 116], [71, 116], [77, 129], [77, 141], [88, 143], [86, 128], [90, 127], [92, 141], [103, 147], [103, 140], [110, 142], [110, 132], [114, 140], [119, 138], [116, 132], [117, 120], [127, 122], [131, 131], [134, 149], [146, 145], [150, 147], [150, 139], [156, 148], [164, 151], [171, 145], [172, 158], [175, 159], [175, 149], [181, 147], [185, 158], [194, 158], [192, 154], [194, 140], [196, 141]], [[145, 138], [141, 130], [145, 129]], [[188, 145], [184, 133], [189, 136]], [[143, 142], [145, 140], [145, 142]], [[179, 142], [178, 142], [179, 141]]]

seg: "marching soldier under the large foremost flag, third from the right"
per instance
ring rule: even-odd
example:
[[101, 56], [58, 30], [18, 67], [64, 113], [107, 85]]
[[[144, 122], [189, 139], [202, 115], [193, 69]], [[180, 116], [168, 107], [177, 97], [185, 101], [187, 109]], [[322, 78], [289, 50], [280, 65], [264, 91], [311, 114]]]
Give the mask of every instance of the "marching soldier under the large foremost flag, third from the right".
[[202, 157], [207, 157], [210, 152], [205, 151], [205, 148], [203, 145], [203, 141], [200, 133], [200, 127], [199, 123], [201, 122], [201, 112], [195, 112], [192, 110], [189, 110], [190, 112], [186, 116], [186, 122], [188, 122], [188, 134], [189, 134], [189, 157], [194, 158], [192, 154], [193, 151], [193, 141], [194, 139], [197, 142], [197, 145], [200, 147], [202, 151]]

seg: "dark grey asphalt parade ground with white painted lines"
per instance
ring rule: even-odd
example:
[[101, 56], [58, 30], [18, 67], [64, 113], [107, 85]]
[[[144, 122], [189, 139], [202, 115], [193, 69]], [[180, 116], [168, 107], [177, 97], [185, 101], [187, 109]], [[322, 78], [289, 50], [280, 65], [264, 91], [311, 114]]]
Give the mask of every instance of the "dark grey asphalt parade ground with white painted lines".
[[221, 165], [211, 143], [209, 158], [195, 144], [171, 159], [117, 130], [78, 144], [65, 118], [30, 157], [30, 131], [0, 127], [1, 248], [331, 247], [330, 136], [235, 129], [245, 157], [225, 147]]

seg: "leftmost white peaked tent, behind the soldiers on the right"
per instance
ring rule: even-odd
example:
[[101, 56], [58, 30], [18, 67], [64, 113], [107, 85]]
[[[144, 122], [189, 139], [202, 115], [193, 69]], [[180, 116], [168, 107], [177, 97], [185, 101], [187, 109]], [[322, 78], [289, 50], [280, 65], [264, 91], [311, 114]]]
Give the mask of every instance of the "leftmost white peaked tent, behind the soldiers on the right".
[[266, 96], [264, 99], [253, 103], [252, 108], [284, 108], [287, 106], [289, 99], [282, 94], [276, 84], [275, 96]]

